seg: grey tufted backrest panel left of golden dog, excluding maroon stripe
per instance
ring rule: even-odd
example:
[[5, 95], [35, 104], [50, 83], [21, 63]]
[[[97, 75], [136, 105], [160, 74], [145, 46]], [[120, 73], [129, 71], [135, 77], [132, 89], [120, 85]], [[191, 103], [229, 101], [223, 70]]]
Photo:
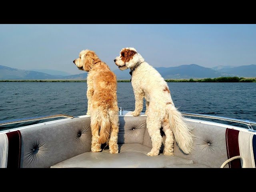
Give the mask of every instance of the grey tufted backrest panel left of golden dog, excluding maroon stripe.
[[51, 165], [91, 150], [90, 117], [20, 130], [21, 168]]

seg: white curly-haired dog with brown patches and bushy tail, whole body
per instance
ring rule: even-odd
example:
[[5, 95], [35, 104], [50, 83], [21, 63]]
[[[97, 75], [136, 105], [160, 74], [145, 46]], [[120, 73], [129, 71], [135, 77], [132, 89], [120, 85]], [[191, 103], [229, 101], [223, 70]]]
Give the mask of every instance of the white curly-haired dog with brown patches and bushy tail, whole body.
[[161, 126], [166, 136], [164, 154], [173, 155], [174, 137], [180, 149], [189, 154], [192, 150], [193, 136], [188, 124], [182, 120], [182, 114], [175, 108], [164, 78], [145, 62], [134, 48], [123, 48], [120, 56], [114, 61], [120, 70], [130, 68], [132, 71], [132, 87], [135, 95], [133, 116], [140, 115], [143, 98], [146, 99], [146, 124], [152, 140], [152, 150], [148, 155], [159, 154], [162, 145]]

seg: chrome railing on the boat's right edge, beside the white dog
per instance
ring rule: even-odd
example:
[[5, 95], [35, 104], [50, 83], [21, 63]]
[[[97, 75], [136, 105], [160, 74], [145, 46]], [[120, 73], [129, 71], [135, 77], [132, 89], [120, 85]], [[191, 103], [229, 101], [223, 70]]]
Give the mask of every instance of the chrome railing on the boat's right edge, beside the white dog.
[[250, 120], [242, 120], [242, 119], [236, 119], [236, 118], [228, 118], [228, 117], [221, 117], [221, 116], [214, 116], [214, 115], [204, 115], [204, 114], [196, 114], [196, 113], [182, 113], [183, 116], [192, 116], [192, 117], [202, 117], [202, 118], [210, 118], [210, 119], [218, 119], [218, 120], [224, 120], [224, 121], [230, 121], [235, 123], [241, 123], [246, 124], [249, 128], [249, 131], [256, 132], [252, 128], [252, 125], [256, 125], [255, 121]]

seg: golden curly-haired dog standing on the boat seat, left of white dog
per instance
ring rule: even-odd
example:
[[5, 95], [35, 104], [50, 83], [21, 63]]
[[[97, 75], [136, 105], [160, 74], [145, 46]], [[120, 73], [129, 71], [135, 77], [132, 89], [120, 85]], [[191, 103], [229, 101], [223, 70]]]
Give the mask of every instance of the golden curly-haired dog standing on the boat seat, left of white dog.
[[92, 152], [100, 152], [101, 144], [109, 139], [110, 153], [118, 153], [116, 75], [91, 50], [82, 50], [73, 62], [78, 69], [88, 72], [86, 114], [91, 115]]

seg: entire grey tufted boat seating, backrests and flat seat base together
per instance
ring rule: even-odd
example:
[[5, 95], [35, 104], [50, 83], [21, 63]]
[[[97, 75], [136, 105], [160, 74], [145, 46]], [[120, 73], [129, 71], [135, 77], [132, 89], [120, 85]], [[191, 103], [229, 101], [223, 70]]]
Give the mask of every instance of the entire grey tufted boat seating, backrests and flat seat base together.
[[[187, 119], [188, 120], [188, 119]], [[60, 168], [60, 167], [158, 167], [158, 168], [220, 168], [228, 159], [227, 131], [230, 128], [200, 122], [187, 121], [194, 129], [194, 150], [184, 154], [174, 143], [174, 156], [147, 156], [152, 141], [146, 129], [146, 116], [119, 116], [118, 145], [119, 154], [110, 154], [109, 150], [93, 153], [91, 151], [92, 134], [90, 116], [65, 119], [20, 129], [18, 138], [9, 140], [8, 135], [0, 134], [0, 167], [12, 165], [20, 168]], [[242, 144], [242, 155], [248, 167], [255, 167], [252, 150], [252, 133], [236, 131], [237, 146]], [[17, 131], [16, 131], [17, 132]], [[8, 134], [8, 135], [7, 135]], [[16, 133], [17, 134], [17, 133]], [[228, 136], [233, 137], [232, 134]], [[243, 136], [243, 137], [242, 137]], [[239, 139], [238, 139], [239, 137]], [[239, 142], [238, 141], [244, 141]], [[165, 136], [163, 134], [163, 146]], [[8, 147], [10, 145], [11, 147]], [[247, 145], [249, 147], [247, 147]], [[15, 146], [18, 152], [17, 164], [12, 164]], [[239, 146], [240, 147], [240, 146]], [[230, 150], [240, 150], [231, 147]], [[12, 155], [11, 154], [11, 155]], [[250, 154], [250, 155], [244, 155]], [[20, 155], [20, 156], [19, 156]], [[240, 160], [237, 160], [240, 161]], [[8, 163], [9, 162], [9, 163]], [[229, 165], [226, 164], [225, 168]]]

